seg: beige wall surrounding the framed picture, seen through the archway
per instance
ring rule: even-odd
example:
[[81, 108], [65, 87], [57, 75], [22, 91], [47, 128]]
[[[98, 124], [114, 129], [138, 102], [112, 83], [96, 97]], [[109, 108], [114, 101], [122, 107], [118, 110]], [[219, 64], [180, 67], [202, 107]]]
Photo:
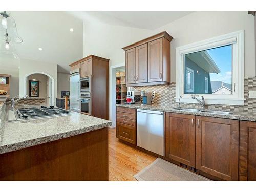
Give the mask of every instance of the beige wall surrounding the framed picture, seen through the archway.
[[27, 95], [29, 95], [29, 80], [36, 80], [39, 81], [39, 97], [44, 97], [46, 98], [46, 82], [47, 82], [47, 78], [48, 76], [44, 75], [44, 74], [32, 74], [30, 76], [28, 76], [27, 80]]

